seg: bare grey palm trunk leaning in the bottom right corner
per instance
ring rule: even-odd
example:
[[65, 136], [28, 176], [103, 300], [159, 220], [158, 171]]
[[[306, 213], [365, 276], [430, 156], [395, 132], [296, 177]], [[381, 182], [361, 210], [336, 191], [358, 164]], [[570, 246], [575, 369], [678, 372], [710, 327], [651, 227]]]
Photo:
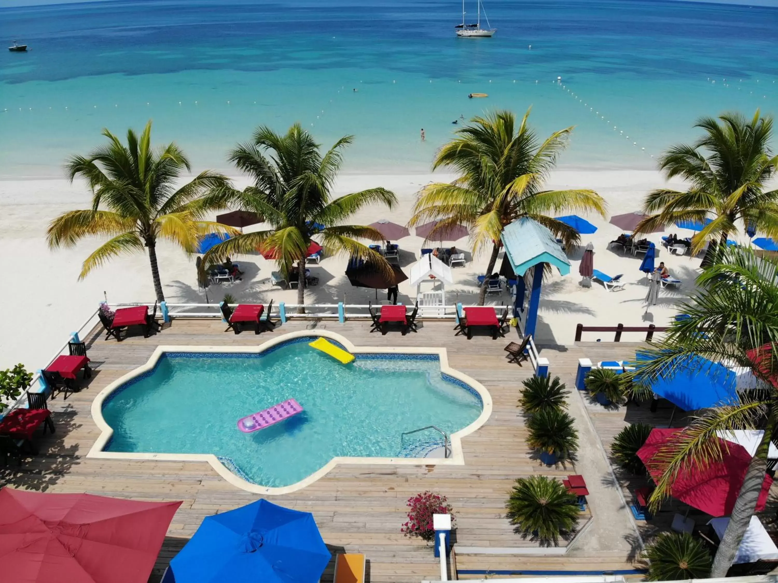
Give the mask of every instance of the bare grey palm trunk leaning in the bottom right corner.
[[[725, 241], [726, 244], [726, 241]], [[767, 451], [770, 440], [773, 437], [773, 427], [776, 423], [776, 407], [770, 406], [770, 415], [765, 427], [765, 434], [762, 436], [762, 442], [756, 448], [754, 457], [748, 464], [748, 470], [743, 480], [738, 499], [735, 500], [734, 508], [730, 522], [727, 524], [727, 530], [724, 532], [724, 538], [721, 539], [716, 557], [713, 559], [713, 568], [710, 571], [712, 578], [726, 577], [727, 571], [732, 566], [735, 555], [743, 540], [748, 525], [751, 524], [751, 517], [756, 511], [756, 503], [759, 500], [759, 493], [762, 492], [762, 483], [765, 481], [765, 472], [767, 470]]]

